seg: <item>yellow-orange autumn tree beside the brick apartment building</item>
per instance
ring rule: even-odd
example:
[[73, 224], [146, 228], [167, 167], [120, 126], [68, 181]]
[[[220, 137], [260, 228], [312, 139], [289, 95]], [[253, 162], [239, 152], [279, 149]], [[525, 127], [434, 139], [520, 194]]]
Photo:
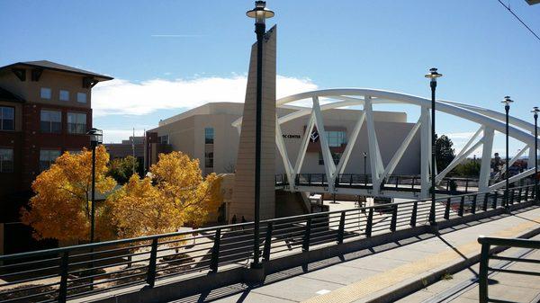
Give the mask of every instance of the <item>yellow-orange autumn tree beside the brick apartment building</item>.
[[[105, 147], [95, 150], [95, 189], [110, 192], [116, 185], [107, 177], [109, 154]], [[35, 195], [28, 208], [21, 209], [22, 221], [34, 229], [37, 239], [86, 240], [90, 235], [92, 152], [65, 153], [31, 184]], [[114, 228], [107, 219], [110, 209], [95, 205], [95, 237], [108, 239]]]

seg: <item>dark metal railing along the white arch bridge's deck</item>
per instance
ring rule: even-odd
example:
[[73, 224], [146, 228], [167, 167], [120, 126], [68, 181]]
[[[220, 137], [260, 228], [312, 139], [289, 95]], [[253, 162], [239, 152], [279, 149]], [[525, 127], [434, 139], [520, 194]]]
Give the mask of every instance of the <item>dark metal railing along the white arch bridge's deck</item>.
[[[437, 193], [467, 193], [478, 191], [478, 179], [474, 178], [443, 178], [437, 185]], [[494, 183], [493, 180], [489, 184]], [[521, 179], [519, 185], [530, 184], [529, 179]], [[517, 186], [514, 184], [513, 186]], [[286, 174], [275, 175], [275, 186], [289, 186]], [[326, 174], [296, 174], [294, 186], [328, 187]], [[335, 188], [373, 189], [371, 174], [338, 174]], [[391, 175], [381, 184], [382, 191], [420, 192], [421, 178], [419, 175]]]

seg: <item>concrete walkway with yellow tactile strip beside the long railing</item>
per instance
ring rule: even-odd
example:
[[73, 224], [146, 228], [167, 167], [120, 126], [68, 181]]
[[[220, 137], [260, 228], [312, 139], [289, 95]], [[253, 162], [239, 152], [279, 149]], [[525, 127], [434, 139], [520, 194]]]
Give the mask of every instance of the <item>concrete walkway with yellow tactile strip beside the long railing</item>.
[[479, 254], [478, 236], [516, 237], [539, 227], [540, 208], [523, 209], [441, 230], [438, 236], [415, 237], [277, 272], [258, 288], [232, 285], [174, 302], [393, 301], [421, 289], [422, 283], [447, 276], [450, 266]]

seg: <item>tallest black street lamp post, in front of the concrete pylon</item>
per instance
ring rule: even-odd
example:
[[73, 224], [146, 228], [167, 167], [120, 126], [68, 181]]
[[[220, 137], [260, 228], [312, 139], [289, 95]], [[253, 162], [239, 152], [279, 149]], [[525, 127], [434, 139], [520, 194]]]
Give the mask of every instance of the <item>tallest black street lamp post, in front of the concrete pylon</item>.
[[255, 8], [247, 11], [247, 17], [255, 19], [257, 34], [257, 113], [255, 140], [255, 226], [253, 242], [253, 267], [259, 267], [259, 228], [260, 228], [260, 180], [261, 180], [261, 120], [263, 102], [263, 38], [266, 32], [266, 18], [274, 17], [274, 12], [266, 8], [266, 1], [256, 1]]

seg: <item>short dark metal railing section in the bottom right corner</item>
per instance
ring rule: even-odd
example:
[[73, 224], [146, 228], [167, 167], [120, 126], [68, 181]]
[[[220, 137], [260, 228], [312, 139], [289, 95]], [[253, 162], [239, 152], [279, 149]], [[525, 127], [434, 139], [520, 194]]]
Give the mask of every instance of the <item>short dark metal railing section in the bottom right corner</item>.
[[500, 238], [500, 237], [484, 237], [481, 236], [478, 238], [478, 243], [482, 245], [481, 261], [480, 261], [480, 274], [479, 274], [479, 301], [481, 303], [486, 302], [507, 302], [500, 299], [491, 299], [488, 293], [488, 275], [490, 272], [506, 272], [511, 274], [520, 274], [520, 275], [531, 275], [531, 276], [540, 276], [540, 272], [529, 272], [529, 271], [520, 271], [513, 270], [509, 268], [495, 268], [490, 267], [490, 260], [501, 260], [507, 262], [516, 262], [516, 263], [534, 263], [540, 264], [540, 260], [533, 260], [529, 258], [515, 258], [515, 257], [505, 257], [499, 255], [491, 255], [491, 246], [506, 246], [506, 247], [519, 247], [519, 248], [530, 248], [530, 249], [540, 249], [540, 241], [529, 240], [529, 239], [518, 239], [518, 238]]

